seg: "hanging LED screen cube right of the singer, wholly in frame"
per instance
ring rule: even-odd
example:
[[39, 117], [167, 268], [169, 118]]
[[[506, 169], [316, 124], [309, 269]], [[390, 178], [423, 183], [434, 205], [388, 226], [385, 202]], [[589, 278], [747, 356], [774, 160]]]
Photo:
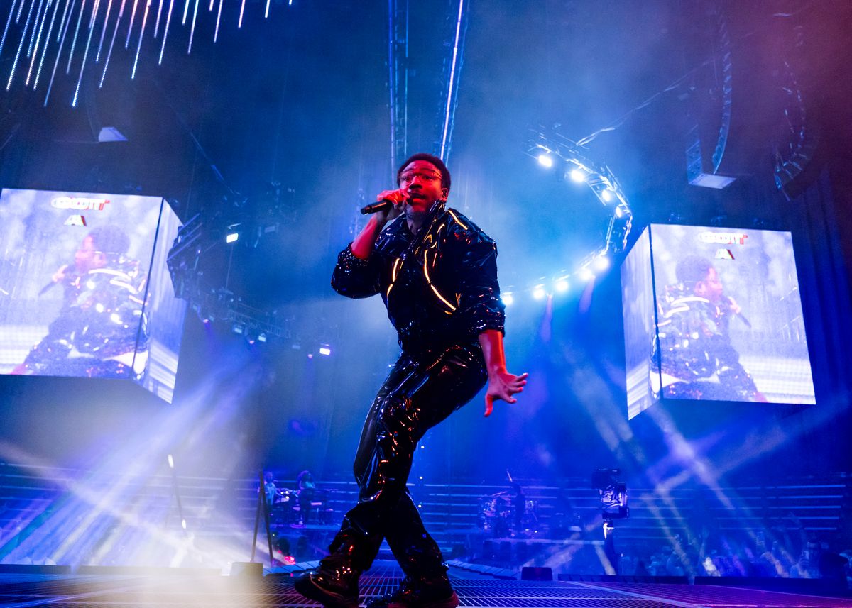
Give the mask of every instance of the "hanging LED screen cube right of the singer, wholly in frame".
[[814, 404], [790, 232], [652, 224], [621, 267], [627, 413]]

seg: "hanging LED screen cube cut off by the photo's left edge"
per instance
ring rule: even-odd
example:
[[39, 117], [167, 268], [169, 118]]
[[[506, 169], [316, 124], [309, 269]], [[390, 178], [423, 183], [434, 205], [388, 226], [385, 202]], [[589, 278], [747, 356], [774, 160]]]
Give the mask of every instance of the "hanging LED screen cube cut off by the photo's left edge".
[[171, 402], [186, 303], [163, 198], [0, 193], [0, 373], [124, 378]]

